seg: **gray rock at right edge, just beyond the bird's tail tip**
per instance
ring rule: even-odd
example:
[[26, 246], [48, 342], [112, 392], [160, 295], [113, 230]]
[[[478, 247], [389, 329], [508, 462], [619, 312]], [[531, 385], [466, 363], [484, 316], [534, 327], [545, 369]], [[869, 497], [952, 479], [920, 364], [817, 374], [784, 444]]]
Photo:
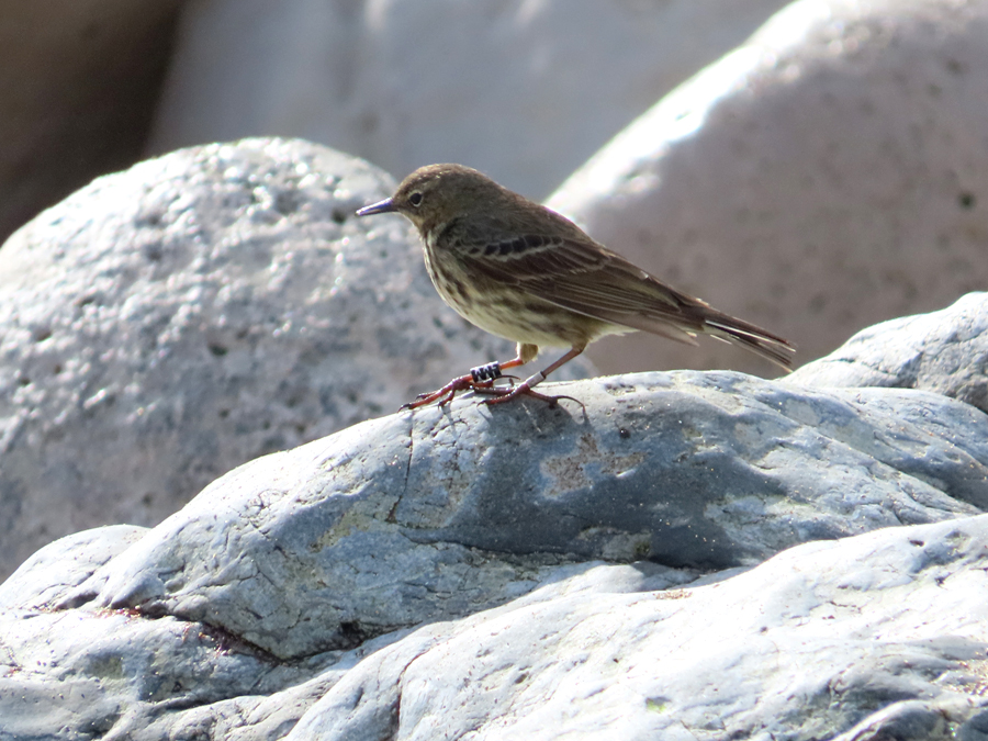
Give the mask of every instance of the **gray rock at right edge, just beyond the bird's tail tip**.
[[988, 412], [988, 293], [863, 329], [784, 379], [810, 386], [923, 389]]

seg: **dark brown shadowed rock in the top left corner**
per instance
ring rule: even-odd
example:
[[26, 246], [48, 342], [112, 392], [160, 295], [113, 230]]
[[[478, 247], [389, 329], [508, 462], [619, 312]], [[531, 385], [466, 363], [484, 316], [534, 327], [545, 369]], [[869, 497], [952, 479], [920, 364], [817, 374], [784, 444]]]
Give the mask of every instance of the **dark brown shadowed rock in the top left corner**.
[[0, 10], [0, 243], [141, 157], [182, 0], [32, 0]]

